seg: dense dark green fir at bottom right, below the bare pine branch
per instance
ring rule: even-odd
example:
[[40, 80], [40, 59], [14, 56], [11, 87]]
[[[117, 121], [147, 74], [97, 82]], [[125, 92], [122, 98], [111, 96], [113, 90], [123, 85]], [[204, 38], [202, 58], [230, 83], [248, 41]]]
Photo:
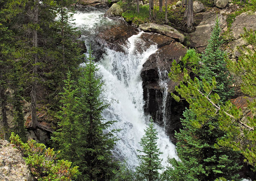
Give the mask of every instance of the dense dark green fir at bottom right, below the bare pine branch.
[[194, 112], [184, 111], [181, 121], [183, 129], [175, 133], [178, 139], [176, 149], [181, 160], [169, 159], [170, 167], [164, 173], [166, 180], [214, 180], [219, 176], [238, 180], [239, 153], [226, 147], [215, 148], [217, 139], [224, 136], [217, 127], [217, 121], [211, 119], [207, 124], [197, 127]]

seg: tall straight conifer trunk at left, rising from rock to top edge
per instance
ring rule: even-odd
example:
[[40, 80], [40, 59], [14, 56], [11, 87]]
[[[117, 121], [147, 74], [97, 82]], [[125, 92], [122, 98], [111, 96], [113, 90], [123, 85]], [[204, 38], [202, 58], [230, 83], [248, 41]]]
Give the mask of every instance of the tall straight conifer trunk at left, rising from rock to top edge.
[[[34, 51], [37, 51], [37, 23], [38, 23], [38, 8], [39, 8], [39, 1], [34, 0], [34, 8], [33, 8], [33, 48]], [[34, 129], [39, 125], [37, 121], [36, 116], [36, 89], [37, 89], [37, 73], [38, 73], [38, 55], [37, 52], [33, 55], [34, 58], [34, 65], [33, 65], [33, 77], [32, 77], [32, 90], [31, 90], [31, 103], [30, 103], [30, 109], [31, 109], [31, 127]]]

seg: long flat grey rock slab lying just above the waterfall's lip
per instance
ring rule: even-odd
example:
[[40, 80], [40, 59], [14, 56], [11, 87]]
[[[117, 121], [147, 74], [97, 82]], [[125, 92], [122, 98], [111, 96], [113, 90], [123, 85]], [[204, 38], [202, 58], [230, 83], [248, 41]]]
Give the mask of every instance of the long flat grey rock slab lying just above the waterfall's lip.
[[183, 43], [184, 35], [178, 32], [176, 29], [168, 26], [168, 25], [158, 25], [156, 23], [145, 23], [139, 25], [139, 28], [145, 32], [155, 32], [159, 34], [163, 34], [167, 37], [174, 38], [176, 41]]

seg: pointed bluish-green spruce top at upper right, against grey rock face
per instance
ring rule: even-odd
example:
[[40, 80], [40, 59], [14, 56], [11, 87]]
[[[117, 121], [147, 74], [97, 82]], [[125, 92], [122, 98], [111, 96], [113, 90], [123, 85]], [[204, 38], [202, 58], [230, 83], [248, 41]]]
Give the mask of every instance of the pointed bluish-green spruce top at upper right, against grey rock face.
[[213, 92], [220, 96], [221, 101], [225, 101], [234, 95], [234, 89], [231, 88], [232, 76], [229, 74], [224, 60], [225, 52], [220, 49], [223, 43], [220, 31], [220, 20], [217, 17], [211, 38], [208, 40], [204, 54], [202, 54], [200, 78], [201, 80], [204, 78], [208, 83], [211, 83], [212, 77], [215, 77], [217, 86]]

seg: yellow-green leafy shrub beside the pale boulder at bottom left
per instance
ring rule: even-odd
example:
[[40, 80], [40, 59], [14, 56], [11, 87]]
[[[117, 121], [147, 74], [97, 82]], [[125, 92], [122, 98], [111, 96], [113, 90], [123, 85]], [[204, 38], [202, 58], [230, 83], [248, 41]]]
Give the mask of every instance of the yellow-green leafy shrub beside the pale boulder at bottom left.
[[77, 166], [71, 167], [72, 163], [66, 160], [56, 160], [57, 154], [44, 144], [34, 140], [23, 143], [13, 132], [10, 140], [22, 150], [26, 163], [39, 181], [71, 181], [79, 175]]

